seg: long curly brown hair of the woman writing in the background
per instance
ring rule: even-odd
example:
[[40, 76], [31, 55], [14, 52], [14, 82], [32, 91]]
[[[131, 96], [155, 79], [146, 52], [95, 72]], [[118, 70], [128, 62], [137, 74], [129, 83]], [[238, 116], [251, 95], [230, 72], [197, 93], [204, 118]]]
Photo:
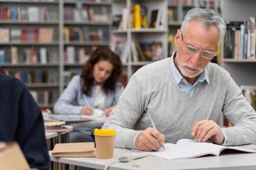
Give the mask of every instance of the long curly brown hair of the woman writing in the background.
[[119, 55], [112, 52], [108, 47], [98, 47], [93, 51], [90, 59], [83, 66], [80, 77], [83, 79], [83, 86], [81, 91], [83, 94], [91, 96], [92, 86], [94, 84], [93, 68], [99, 61], [108, 61], [113, 64], [113, 71], [110, 77], [103, 83], [102, 89], [107, 94], [109, 91], [115, 92], [115, 85], [121, 81], [123, 66]]

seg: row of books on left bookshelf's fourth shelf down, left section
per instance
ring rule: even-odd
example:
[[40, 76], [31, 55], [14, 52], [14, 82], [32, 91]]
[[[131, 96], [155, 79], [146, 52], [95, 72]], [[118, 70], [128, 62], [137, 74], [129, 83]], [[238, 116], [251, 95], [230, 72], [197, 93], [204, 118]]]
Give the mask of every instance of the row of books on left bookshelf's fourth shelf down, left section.
[[34, 83], [56, 83], [57, 76], [52, 70], [14, 70], [4, 69], [7, 75], [20, 79], [25, 84]]

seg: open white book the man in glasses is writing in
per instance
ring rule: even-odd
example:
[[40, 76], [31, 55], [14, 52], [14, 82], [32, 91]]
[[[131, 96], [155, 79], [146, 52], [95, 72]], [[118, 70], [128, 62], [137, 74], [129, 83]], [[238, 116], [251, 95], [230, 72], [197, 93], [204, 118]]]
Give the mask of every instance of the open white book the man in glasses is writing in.
[[164, 144], [164, 148], [165, 150], [161, 148], [158, 151], [152, 152], [138, 150], [135, 151], [144, 152], [148, 155], [166, 160], [188, 159], [200, 157], [203, 155], [219, 156], [220, 152], [225, 149], [256, 153], [256, 145], [252, 144], [242, 146], [221, 146], [209, 142], [195, 142], [191, 139], [180, 139], [176, 144], [166, 143]]

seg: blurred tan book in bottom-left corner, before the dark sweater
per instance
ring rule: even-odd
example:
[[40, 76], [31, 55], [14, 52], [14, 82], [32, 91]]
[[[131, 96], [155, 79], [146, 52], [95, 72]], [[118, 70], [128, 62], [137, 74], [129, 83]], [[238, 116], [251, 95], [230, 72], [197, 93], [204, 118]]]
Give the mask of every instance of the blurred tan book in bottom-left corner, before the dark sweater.
[[29, 164], [16, 141], [0, 142], [0, 169], [30, 170]]

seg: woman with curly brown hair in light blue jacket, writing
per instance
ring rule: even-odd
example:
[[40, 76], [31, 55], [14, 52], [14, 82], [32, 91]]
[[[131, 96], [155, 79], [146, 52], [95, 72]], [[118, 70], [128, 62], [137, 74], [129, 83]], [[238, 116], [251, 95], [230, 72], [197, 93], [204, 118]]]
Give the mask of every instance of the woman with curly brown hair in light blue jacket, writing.
[[[122, 63], [119, 55], [107, 47], [93, 51], [83, 66], [81, 75], [72, 77], [54, 104], [54, 113], [91, 115], [94, 108], [102, 109], [109, 116], [115, 108], [124, 86], [121, 84]], [[85, 99], [88, 102], [85, 102]], [[70, 142], [94, 141], [94, 128], [102, 124], [72, 124]]]

